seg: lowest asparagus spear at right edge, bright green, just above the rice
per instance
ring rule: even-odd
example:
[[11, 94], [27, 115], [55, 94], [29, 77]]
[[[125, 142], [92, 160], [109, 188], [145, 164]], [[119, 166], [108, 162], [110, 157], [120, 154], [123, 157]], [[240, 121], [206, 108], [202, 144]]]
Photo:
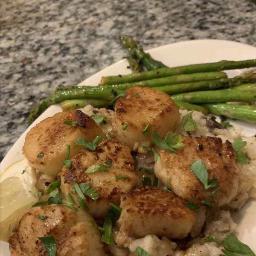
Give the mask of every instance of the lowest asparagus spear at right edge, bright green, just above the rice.
[[203, 106], [215, 115], [256, 122], [256, 106], [226, 103], [204, 104]]

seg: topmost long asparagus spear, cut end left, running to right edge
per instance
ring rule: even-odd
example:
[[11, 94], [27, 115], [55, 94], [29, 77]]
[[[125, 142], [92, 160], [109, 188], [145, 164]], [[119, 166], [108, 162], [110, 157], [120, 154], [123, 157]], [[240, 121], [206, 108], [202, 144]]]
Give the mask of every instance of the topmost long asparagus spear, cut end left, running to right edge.
[[131, 82], [138, 82], [143, 80], [156, 79], [167, 76], [175, 76], [180, 74], [192, 74], [202, 72], [214, 72], [221, 70], [233, 70], [240, 68], [256, 67], [256, 59], [246, 61], [219, 61], [204, 64], [192, 64], [180, 67], [169, 67], [157, 70], [151, 70], [139, 74], [130, 74], [122, 77], [119, 76], [105, 76], [99, 85], [106, 84], [124, 84]]

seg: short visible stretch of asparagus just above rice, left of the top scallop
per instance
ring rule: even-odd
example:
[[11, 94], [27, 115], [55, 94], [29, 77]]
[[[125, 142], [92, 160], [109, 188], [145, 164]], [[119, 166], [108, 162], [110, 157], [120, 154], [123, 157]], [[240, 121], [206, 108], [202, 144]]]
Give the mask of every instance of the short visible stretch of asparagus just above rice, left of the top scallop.
[[84, 108], [87, 105], [92, 105], [94, 108], [108, 108], [109, 103], [109, 100], [104, 99], [69, 99], [61, 102], [61, 108], [63, 111]]

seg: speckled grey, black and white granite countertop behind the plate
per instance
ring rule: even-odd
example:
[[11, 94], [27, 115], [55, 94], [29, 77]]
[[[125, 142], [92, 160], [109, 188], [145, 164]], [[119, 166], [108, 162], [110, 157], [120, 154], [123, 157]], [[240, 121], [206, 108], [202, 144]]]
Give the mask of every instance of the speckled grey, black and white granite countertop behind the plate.
[[249, 0], [3, 0], [0, 22], [0, 160], [26, 130], [30, 109], [55, 87], [120, 60], [120, 34], [144, 49], [204, 38], [256, 46]]

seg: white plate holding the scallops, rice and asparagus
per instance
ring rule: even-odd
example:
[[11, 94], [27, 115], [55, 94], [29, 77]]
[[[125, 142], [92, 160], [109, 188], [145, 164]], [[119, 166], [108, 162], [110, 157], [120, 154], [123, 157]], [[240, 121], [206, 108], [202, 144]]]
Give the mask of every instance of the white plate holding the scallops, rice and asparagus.
[[[121, 49], [120, 49], [121, 50]], [[256, 58], [256, 48], [233, 41], [224, 40], [195, 40], [186, 41], [176, 44], [169, 44], [148, 51], [151, 56], [162, 61], [169, 67], [215, 62], [221, 60], [246, 60]], [[115, 76], [118, 74], [129, 74], [127, 69], [128, 62], [125, 60], [119, 61], [110, 67], [96, 73], [79, 85], [98, 85], [102, 76]], [[230, 70], [227, 74], [230, 77], [237, 76], [245, 70]], [[1, 173], [12, 163], [23, 158], [22, 147], [25, 142], [27, 132], [43, 119], [53, 116], [55, 113], [61, 112], [59, 105], [53, 105], [47, 109], [29, 128], [21, 135], [17, 142], [13, 145], [6, 157], [1, 163]], [[256, 134], [256, 125], [242, 121], [231, 123], [235, 126], [242, 126], [246, 131], [247, 136]], [[240, 241], [248, 244], [250, 248], [256, 252], [256, 201], [250, 201], [238, 214], [234, 216], [236, 223], [236, 235]], [[1, 241], [1, 256], [9, 256], [9, 247], [7, 243]]]

